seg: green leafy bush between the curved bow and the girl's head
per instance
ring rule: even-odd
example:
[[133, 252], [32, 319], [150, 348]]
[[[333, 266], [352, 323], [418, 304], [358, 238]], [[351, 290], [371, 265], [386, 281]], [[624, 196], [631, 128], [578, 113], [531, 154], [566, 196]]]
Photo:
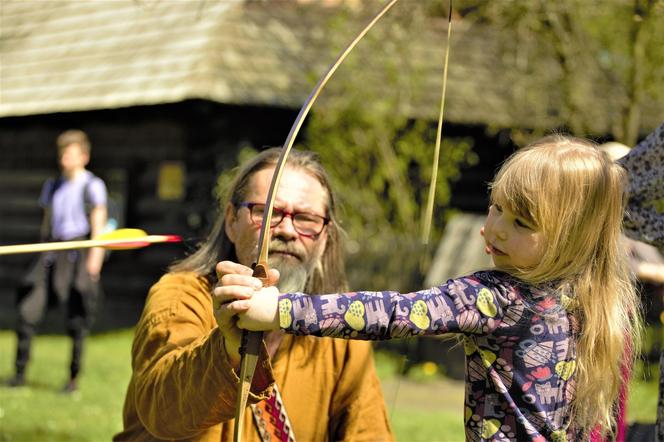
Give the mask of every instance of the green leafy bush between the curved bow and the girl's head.
[[[375, 4], [367, 2], [366, 8], [375, 9]], [[417, 244], [433, 171], [436, 127], [435, 122], [409, 118], [415, 105], [410, 91], [426, 85], [425, 73], [406, 62], [414, 56], [410, 36], [426, 17], [418, 6], [390, 12], [396, 14], [390, 25], [372, 29], [337, 71], [306, 127], [305, 148], [319, 153], [342, 203], [341, 219], [351, 240], [351, 254], [361, 251], [351, 262], [361, 266], [362, 277], [351, 281], [355, 286], [403, 287], [404, 275], [418, 279], [420, 256], [429, 253]], [[347, 29], [356, 22], [344, 13], [330, 19], [326, 33], [334, 48], [330, 60], [347, 42]], [[443, 49], [441, 63], [442, 58]], [[439, 95], [441, 87], [430, 93]], [[444, 227], [450, 182], [459, 178], [461, 166], [477, 162], [472, 147], [467, 138], [443, 139], [434, 242]], [[386, 268], [388, 255], [397, 248], [399, 262], [392, 272]], [[379, 263], [382, 274], [374, 276], [366, 268], [369, 262]]]

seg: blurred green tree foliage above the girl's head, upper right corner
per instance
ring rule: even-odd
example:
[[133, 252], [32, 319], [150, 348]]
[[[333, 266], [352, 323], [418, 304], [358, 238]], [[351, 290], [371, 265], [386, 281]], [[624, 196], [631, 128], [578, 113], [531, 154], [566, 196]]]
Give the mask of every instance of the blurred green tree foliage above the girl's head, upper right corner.
[[465, 20], [493, 27], [502, 56], [529, 74], [519, 76], [524, 108], [548, 90], [547, 107], [559, 125], [580, 136], [610, 134], [627, 145], [657, 124], [656, 118], [642, 120], [664, 99], [661, 1], [461, 0], [456, 5]]

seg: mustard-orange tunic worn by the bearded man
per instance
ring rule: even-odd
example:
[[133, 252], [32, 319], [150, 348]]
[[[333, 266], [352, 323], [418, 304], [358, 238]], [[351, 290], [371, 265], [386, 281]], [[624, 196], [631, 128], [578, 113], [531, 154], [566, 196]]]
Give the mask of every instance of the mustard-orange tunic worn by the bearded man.
[[[115, 441], [232, 440], [239, 379], [210, 291], [194, 273], [167, 274], [150, 290]], [[298, 441], [393, 440], [370, 345], [286, 335], [272, 365], [263, 348], [249, 402], [265, 399], [276, 382]], [[260, 440], [250, 409], [244, 439]]]

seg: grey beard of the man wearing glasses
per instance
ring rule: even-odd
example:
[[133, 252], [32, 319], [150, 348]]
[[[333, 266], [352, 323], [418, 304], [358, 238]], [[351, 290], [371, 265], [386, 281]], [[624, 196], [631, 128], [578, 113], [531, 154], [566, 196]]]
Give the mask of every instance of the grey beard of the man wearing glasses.
[[307, 256], [304, 250], [276, 238], [270, 243], [271, 267], [279, 270], [277, 287], [281, 293], [303, 292], [309, 275], [315, 267], [315, 259]]

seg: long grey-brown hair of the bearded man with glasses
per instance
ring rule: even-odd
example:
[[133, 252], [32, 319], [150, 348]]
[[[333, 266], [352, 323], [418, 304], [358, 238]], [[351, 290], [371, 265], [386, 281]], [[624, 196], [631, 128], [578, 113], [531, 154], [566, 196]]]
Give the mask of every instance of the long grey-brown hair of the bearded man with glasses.
[[[235, 179], [220, 198], [219, 207], [217, 208], [219, 215], [207, 239], [198, 245], [198, 249], [193, 254], [173, 264], [170, 271], [196, 272], [214, 281], [216, 280], [214, 267], [219, 261], [237, 261], [235, 246], [224, 229], [224, 208], [229, 202], [237, 208], [244, 201], [251, 177], [256, 172], [275, 166], [280, 153], [280, 148], [264, 150], [239, 168]], [[330, 222], [326, 227], [327, 243], [320, 260], [307, 278], [305, 291], [307, 293], [345, 291], [348, 288], [348, 283], [342, 255], [341, 230], [337, 221], [335, 195], [330, 187], [327, 172], [323, 169], [318, 155], [310, 151], [296, 149], [290, 152], [288, 167], [302, 170], [316, 178], [327, 190], [329, 197], [326, 214], [330, 218]]]

